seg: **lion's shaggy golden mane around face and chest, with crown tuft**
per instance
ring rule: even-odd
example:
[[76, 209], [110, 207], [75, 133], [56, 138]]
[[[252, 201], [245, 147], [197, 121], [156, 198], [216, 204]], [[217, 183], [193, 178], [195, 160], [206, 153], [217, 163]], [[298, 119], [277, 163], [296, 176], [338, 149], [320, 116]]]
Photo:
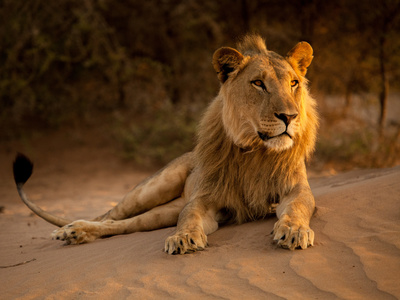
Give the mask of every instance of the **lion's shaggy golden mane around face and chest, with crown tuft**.
[[[265, 54], [267, 50], [264, 40], [253, 35], [246, 36], [238, 48], [245, 55]], [[246, 56], [243, 60], [245, 64], [248, 62]], [[306, 83], [305, 78], [303, 82]], [[318, 116], [315, 100], [304, 88], [300, 105], [302, 130], [295, 138], [293, 147], [277, 152], [264, 147], [262, 140], [256, 137], [244, 142], [251, 145], [250, 148], [240, 148], [224, 128], [223, 97], [220, 92], [199, 125], [195, 165], [205, 175], [200, 185], [208, 186], [206, 190], [211, 198], [225, 201], [225, 206], [231, 208], [236, 221], [241, 223], [272, 213], [268, 206], [287, 194], [288, 187], [298, 180], [299, 174], [295, 170], [314, 152]], [[246, 195], [241, 195], [243, 192], [240, 191]], [[241, 199], [237, 199], [238, 196]], [[253, 199], [257, 203], [246, 203], [243, 199]], [[268, 201], [263, 204], [260, 199]]]

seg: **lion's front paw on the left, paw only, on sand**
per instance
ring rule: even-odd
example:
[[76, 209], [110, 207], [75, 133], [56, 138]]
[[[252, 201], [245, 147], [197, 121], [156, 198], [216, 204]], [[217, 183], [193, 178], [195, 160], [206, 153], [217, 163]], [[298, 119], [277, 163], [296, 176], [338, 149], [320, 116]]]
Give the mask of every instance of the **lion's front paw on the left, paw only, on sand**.
[[165, 241], [164, 251], [168, 254], [185, 254], [207, 247], [207, 236], [199, 231], [177, 233]]

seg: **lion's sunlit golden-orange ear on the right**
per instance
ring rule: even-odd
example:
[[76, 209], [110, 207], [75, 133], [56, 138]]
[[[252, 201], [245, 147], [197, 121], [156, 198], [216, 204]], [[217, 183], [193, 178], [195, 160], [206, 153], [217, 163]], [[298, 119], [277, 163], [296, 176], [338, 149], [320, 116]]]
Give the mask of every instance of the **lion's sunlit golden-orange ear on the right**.
[[307, 42], [300, 42], [288, 52], [286, 60], [291, 64], [293, 69], [298, 70], [304, 76], [313, 57], [311, 45]]

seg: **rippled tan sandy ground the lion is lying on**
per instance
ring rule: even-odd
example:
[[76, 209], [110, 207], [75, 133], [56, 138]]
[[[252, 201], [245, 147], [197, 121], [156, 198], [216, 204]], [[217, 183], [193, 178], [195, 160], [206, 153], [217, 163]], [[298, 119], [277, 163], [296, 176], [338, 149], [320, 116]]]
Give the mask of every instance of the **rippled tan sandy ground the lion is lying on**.
[[26, 185], [37, 204], [72, 219], [107, 211], [149, 172], [102, 145], [63, 148], [55, 140], [0, 153], [1, 299], [399, 299], [400, 167], [310, 180], [315, 245], [277, 248], [276, 218], [226, 226], [210, 247], [163, 253], [174, 228], [64, 246], [32, 215], [12, 181], [14, 150], [35, 160]]

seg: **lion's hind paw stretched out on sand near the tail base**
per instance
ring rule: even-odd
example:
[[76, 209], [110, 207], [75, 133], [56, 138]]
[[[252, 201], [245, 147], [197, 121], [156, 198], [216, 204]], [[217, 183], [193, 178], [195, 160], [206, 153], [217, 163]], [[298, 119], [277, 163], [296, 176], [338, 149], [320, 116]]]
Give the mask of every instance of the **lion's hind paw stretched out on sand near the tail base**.
[[65, 241], [67, 245], [70, 245], [92, 242], [99, 236], [95, 222], [82, 220], [54, 230], [51, 237], [53, 240]]

